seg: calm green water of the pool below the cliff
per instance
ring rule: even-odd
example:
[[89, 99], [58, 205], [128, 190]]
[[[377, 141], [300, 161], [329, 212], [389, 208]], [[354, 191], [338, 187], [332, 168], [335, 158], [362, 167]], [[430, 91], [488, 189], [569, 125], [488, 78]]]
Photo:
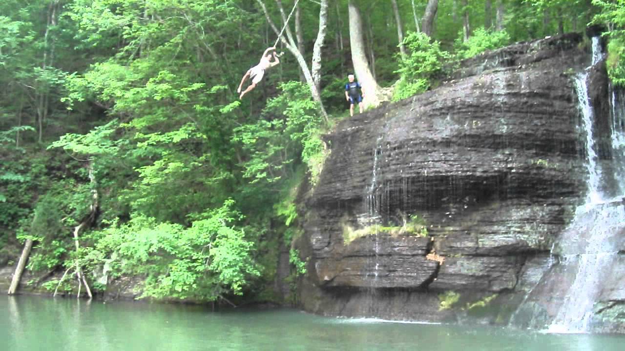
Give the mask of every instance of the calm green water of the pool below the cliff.
[[[6, 341], [4, 341], [6, 340]], [[625, 350], [625, 337], [318, 317], [297, 310], [0, 298], [0, 350]]]

